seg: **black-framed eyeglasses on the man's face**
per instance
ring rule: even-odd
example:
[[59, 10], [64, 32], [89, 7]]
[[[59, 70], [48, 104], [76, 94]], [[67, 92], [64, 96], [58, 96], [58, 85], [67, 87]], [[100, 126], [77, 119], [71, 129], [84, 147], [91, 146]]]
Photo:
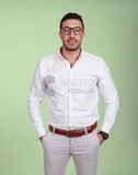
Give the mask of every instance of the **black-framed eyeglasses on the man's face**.
[[69, 27], [69, 26], [65, 26], [62, 28], [60, 28], [60, 31], [64, 32], [65, 35], [69, 35], [71, 33], [71, 31], [73, 31], [74, 35], [80, 35], [83, 32], [83, 28], [76, 26], [76, 27]]

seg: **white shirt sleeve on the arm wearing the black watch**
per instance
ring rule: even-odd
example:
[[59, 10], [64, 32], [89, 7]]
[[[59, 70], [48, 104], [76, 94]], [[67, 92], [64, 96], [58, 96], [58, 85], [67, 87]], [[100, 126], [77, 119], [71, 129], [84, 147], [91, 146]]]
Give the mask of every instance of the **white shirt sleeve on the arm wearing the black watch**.
[[110, 69], [103, 59], [101, 59], [101, 77], [99, 80], [99, 89], [105, 102], [104, 121], [101, 130], [108, 133], [115, 122], [115, 118], [119, 108], [119, 98], [117, 90], [112, 80]]

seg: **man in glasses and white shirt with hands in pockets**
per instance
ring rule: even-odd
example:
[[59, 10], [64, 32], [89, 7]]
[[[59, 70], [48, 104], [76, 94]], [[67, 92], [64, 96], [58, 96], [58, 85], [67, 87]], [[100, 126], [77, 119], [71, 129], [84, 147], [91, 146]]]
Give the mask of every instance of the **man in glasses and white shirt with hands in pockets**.
[[[81, 49], [81, 15], [60, 21], [62, 46], [41, 59], [28, 94], [28, 112], [44, 149], [45, 175], [64, 175], [72, 156], [77, 175], [95, 175], [100, 144], [108, 138], [118, 110], [118, 96], [105, 61]], [[97, 132], [99, 90], [106, 104]], [[48, 95], [48, 132], [41, 103]]]

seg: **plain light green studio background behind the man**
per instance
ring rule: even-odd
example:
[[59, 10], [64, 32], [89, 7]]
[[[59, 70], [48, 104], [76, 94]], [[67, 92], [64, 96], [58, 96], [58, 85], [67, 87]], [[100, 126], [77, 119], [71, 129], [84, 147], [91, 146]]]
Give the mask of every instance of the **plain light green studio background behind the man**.
[[[59, 21], [70, 11], [83, 16], [82, 47], [105, 59], [120, 98], [110, 139], [101, 145], [97, 175], [137, 175], [137, 2], [0, 0], [0, 175], [43, 175], [43, 149], [27, 115], [26, 97], [38, 60], [60, 47]], [[46, 102], [46, 122], [45, 106]], [[102, 100], [100, 110], [101, 125]], [[66, 174], [76, 174], [72, 160]]]

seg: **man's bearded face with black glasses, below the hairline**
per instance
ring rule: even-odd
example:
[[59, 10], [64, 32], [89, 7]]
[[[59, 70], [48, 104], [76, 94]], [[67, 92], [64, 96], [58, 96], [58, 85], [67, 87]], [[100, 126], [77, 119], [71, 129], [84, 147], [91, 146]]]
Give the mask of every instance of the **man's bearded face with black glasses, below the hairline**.
[[74, 51], [79, 49], [84, 36], [82, 23], [76, 19], [64, 21], [59, 36], [66, 50]]

